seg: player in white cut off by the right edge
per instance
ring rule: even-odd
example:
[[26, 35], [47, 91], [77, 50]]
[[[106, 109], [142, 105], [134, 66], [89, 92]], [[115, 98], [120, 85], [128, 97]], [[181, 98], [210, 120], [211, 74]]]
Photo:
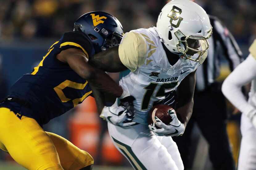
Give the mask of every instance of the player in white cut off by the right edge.
[[[225, 79], [222, 92], [242, 112], [242, 141], [238, 158], [238, 170], [256, 169], [256, 40], [250, 46], [250, 54]], [[251, 82], [249, 100], [241, 87]]]

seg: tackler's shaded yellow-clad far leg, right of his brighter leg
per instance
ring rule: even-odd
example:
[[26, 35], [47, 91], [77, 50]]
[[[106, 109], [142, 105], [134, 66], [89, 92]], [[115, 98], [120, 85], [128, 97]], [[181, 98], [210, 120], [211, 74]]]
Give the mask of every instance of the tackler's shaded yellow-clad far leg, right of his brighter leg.
[[64, 170], [80, 170], [93, 164], [93, 157], [89, 153], [79, 149], [70, 141], [55, 133], [46, 133], [56, 147], [60, 164]]

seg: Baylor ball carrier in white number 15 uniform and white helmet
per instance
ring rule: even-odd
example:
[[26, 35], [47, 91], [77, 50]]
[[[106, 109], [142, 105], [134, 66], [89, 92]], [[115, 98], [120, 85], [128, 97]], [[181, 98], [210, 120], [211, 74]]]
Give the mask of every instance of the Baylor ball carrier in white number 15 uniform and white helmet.
[[[119, 46], [90, 59], [91, 64], [104, 71], [130, 70], [119, 85], [124, 91], [122, 97], [125, 94], [135, 97], [132, 122], [128, 119], [123, 126], [119, 122], [124, 118], [116, 119], [122, 111], [117, 107], [118, 100], [112, 107], [104, 107], [101, 117], [109, 122], [109, 134], [115, 146], [134, 169], [184, 169], [171, 136], [183, 134], [192, 114], [195, 71], [207, 56], [207, 39], [211, 34], [209, 17], [199, 5], [189, 0], [173, 0], [163, 7], [156, 27], [132, 30], [124, 35]], [[148, 126], [148, 111], [154, 103], [179, 85], [183, 89], [179, 98], [184, 99], [176, 110], [180, 120], [173, 114], [170, 125], [157, 122], [160, 129]], [[94, 89], [93, 93], [96, 94]], [[100, 100], [98, 95], [94, 96], [96, 101]]]

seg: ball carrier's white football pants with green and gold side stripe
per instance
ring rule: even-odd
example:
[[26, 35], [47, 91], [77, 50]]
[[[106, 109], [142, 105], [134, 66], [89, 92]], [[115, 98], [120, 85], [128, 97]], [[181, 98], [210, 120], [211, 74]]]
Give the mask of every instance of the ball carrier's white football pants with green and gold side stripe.
[[180, 152], [171, 137], [156, 136], [147, 125], [130, 129], [108, 123], [116, 148], [136, 170], [184, 170]]

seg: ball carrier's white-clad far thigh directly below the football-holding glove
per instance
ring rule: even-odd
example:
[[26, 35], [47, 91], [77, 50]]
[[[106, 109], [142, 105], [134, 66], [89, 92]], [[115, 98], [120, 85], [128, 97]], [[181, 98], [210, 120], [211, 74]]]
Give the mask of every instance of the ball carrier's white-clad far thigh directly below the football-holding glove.
[[171, 155], [178, 169], [183, 170], [184, 165], [180, 157], [178, 146], [172, 140], [171, 136], [157, 136], [157, 138], [160, 141], [160, 143], [167, 149], [168, 153]]

